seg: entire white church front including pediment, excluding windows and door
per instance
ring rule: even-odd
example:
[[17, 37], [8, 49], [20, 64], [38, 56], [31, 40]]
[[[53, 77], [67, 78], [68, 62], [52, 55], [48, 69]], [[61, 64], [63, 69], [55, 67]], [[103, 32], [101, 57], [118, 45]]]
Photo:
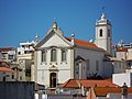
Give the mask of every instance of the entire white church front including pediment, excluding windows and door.
[[[51, 47], [55, 46], [55, 47]], [[51, 51], [56, 50], [56, 62], [51, 62]], [[62, 62], [62, 50], [66, 51], [66, 62]], [[46, 51], [46, 62], [42, 62], [42, 51]], [[56, 33], [47, 38], [40, 46], [37, 52], [37, 82], [50, 87], [50, 75], [56, 73], [57, 84], [63, 84], [72, 77], [72, 50], [68, 43], [65, 42]]]

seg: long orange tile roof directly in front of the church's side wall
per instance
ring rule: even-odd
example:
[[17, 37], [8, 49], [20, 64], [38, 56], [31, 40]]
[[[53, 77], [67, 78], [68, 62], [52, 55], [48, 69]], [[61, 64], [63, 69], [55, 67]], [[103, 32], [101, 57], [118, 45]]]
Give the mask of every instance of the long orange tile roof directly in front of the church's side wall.
[[62, 88], [79, 88], [79, 85], [84, 87], [117, 87], [117, 85], [112, 84], [111, 80], [102, 79], [102, 80], [94, 80], [94, 79], [69, 79], [64, 82], [59, 87]]

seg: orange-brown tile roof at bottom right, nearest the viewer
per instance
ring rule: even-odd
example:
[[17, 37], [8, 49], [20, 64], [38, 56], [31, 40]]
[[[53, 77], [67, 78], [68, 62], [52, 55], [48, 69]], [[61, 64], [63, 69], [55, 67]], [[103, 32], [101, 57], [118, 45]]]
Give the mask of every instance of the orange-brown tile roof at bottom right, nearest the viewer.
[[[122, 94], [122, 88], [116, 87], [95, 87], [94, 91], [97, 97], [106, 97], [108, 94]], [[128, 92], [132, 94], [132, 88], [128, 88]]]

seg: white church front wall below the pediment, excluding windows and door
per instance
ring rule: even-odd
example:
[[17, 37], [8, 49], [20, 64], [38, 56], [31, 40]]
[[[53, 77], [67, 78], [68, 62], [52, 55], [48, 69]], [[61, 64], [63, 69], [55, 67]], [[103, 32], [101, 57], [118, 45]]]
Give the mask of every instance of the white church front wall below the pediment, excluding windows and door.
[[[67, 61], [62, 62], [61, 59], [61, 48], [57, 48], [57, 62], [51, 62], [51, 50], [47, 50], [46, 62], [42, 63], [41, 51], [37, 51], [37, 81], [38, 84], [48, 85], [50, 82], [50, 72], [51, 67], [54, 65], [57, 67], [58, 72], [58, 84], [62, 84], [70, 78], [70, 50], [67, 50]], [[42, 74], [44, 73], [44, 74]], [[54, 72], [53, 72], [54, 73]], [[42, 77], [44, 79], [42, 80]], [[45, 80], [45, 81], [44, 81]]]

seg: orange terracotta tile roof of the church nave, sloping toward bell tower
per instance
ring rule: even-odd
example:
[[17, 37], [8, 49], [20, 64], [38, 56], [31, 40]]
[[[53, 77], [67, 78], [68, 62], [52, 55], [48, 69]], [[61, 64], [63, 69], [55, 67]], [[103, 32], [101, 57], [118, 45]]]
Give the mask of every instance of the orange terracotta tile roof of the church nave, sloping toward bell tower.
[[[68, 40], [68, 41], [72, 41], [72, 37], [65, 37], [65, 38]], [[84, 47], [91, 47], [91, 48], [96, 48], [96, 50], [102, 50], [102, 48], [99, 48], [96, 44], [94, 44], [91, 42], [84, 41], [84, 40], [75, 38], [75, 44], [77, 46], [84, 46]]]

